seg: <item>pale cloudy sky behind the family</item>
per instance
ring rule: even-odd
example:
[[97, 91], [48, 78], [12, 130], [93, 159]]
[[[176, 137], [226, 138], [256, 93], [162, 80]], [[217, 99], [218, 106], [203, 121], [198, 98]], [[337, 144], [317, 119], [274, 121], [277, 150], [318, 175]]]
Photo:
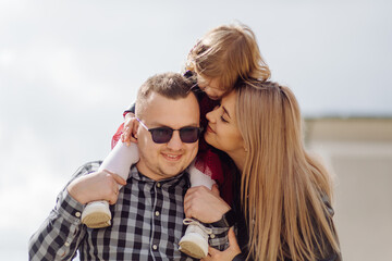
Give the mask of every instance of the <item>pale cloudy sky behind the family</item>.
[[[83, 163], [103, 159], [140, 84], [241, 22], [305, 116], [392, 116], [392, 2], [0, 0], [0, 260]], [[4, 210], [5, 208], [5, 210]]]

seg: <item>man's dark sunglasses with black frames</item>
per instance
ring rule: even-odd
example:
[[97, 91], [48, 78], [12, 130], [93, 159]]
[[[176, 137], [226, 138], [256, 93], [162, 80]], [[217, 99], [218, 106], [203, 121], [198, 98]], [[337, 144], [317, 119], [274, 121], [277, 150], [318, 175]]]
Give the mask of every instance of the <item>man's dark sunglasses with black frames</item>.
[[203, 132], [203, 127], [182, 127], [180, 129], [173, 129], [171, 127], [156, 127], [156, 128], [148, 128], [139, 119], [136, 120], [140, 123], [140, 125], [151, 133], [151, 137], [154, 142], [156, 144], [167, 144], [173, 136], [174, 130], [180, 132], [180, 138], [185, 144], [193, 144], [196, 142], [200, 134]]

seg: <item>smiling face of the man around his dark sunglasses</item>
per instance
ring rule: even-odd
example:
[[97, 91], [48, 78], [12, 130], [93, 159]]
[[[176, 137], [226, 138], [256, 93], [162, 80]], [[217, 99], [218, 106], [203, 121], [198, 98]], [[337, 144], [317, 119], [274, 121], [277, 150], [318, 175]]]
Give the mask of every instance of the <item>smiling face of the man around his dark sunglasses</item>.
[[[177, 100], [151, 92], [139, 119], [148, 128], [198, 127], [199, 107], [192, 92], [186, 98]], [[156, 144], [151, 133], [140, 124], [137, 130], [137, 145], [140, 160], [136, 166], [140, 173], [155, 181], [180, 174], [191, 164], [198, 149], [198, 141], [183, 142], [177, 130], [173, 132], [172, 138], [167, 144]]]

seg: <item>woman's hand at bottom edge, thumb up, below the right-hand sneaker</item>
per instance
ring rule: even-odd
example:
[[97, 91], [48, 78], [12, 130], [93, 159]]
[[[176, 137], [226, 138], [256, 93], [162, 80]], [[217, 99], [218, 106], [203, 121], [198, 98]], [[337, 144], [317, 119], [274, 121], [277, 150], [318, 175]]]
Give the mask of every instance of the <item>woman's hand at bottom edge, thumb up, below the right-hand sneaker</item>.
[[235, 258], [235, 256], [237, 256], [238, 253], [241, 253], [241, 249], [238, 246], [238, 243], [235, 238], [235, 234], [234, 234], [234, 229], [233, 227], [230, 227], [229, 231], [229, 248], [224, 251], [219, 251], [215, 248], [208, 247], [208, 254], [206, 258], [201, 259], [200, 261], [212, 261], [212, 260], [218, 260], [218, 261], [231, 261]]

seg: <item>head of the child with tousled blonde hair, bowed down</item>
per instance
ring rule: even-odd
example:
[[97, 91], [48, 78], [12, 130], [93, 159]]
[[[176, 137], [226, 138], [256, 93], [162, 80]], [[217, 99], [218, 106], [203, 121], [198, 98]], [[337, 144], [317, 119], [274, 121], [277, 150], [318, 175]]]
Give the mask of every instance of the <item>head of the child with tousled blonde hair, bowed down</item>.
[[255, 34], [246, 25], [221, 25], [209, 30], [191, 50], [186, 69], [205, 78], [217, 78], [230, 91], [238, 78], [266, 80], [270, 71]]

